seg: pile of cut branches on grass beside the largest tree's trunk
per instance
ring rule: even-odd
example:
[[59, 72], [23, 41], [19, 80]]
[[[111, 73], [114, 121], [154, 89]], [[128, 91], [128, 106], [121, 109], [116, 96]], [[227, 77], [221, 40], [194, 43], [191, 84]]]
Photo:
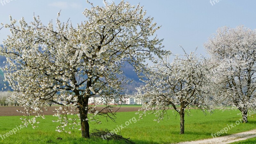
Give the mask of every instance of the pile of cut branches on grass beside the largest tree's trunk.
[[113, 131], [110, 131], [108, 129], [102, 129], [102, 130], [93, 129], [93, 132], [91, 133], [91, 136], [99, 137], [99, 138], [102, 138], [104, 140], [123, 140], [124, 142], [126, 142], [128, 144], [135, 143], [135, 142], [130, 141], [129, 140], [130, 138], [126, 139], [123, 136], [118, 135], [116, 133], [113, 133]]

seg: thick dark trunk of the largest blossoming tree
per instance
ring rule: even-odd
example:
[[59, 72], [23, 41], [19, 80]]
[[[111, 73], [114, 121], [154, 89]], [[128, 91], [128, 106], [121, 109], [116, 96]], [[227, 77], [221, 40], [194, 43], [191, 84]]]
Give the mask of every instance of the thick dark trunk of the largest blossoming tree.
[[80, 119], [81, 119], [81, 132], [82, 132], [83, 138], [90, 138], [89, 123], [87, 120], [88, 100], [89, 98], [84, 98], [83, 105], [79, 107], [79, 113], [80, 113]]

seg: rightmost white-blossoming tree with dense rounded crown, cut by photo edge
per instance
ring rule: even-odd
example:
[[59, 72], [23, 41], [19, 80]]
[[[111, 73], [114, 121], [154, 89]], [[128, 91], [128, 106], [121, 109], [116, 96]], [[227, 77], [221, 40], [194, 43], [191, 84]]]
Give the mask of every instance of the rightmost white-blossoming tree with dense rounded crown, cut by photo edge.
[[[256, 104], [256, 30], [222, 27], [204, 44], [211, 56], [212, 80], [218, 96], [235, 105], [246, 123], [248, 110]], [[221, 87], [220, 87], [221, 86]]]

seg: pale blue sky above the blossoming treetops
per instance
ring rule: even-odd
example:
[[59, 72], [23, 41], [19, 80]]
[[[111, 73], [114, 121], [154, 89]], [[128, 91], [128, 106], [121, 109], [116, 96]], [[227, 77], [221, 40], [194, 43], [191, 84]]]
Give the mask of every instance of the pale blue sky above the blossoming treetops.
[[[118, 4], [121, 0], [106, 0], [108, 3]], [[127, 0], [125, 0], [127, 1]], [[186, 52], [194, 51], [205, 54], [203, 44], [212, 33], [222, 26], [235, 28], [244, 25], [256, 28], [256, 1], [240, 0], [128, 0], [131, 4], [144, 6], [147, 16], [154, 17], [158, 26], [162, 26], [156, 34], [164, 39], [166, 50], [173, 54], [183, 54], [179, 45]], [[91, 0], [94, 5], [103, 6], [102, 0]], [[69, 18], [73, 26], [85, 20], [84, 8], [91, 5], [86, 0], [0, 0], [0, 23], [10, 23], [12, 19], [20, 20], [24, 17], [27, 22], [33, 20], [33, 14], [39, 15], [44, 25], [50, 20], [55, 22], [57, 13], [61, 10], [60, 20], [66, 22]], [[10, 34], [7, 28], [0, 30], [0, 43]]]

